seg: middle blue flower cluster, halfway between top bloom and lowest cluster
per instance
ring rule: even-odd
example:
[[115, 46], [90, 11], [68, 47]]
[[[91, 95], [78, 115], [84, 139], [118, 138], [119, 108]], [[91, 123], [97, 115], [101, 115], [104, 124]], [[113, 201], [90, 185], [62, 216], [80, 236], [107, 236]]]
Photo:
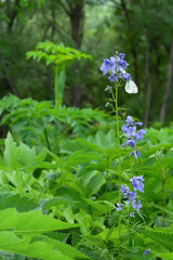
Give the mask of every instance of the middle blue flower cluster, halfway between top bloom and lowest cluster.
[[131, 156], [135, 156], [138, 158], [139, 152], [136, 148], [137, 141], [144, 140], [144, 135], [147, 134], [147, 132], [144, 129], [139, 129], [138, 132], [136, 132], [136, 127], [143, 126], [143, 122], [134, 122], [133, 118], [131, 116], [127, 117], [127, 125], [122, 126], [122, 131], [128, 138], [125, 145], [130, 145], [133, 148], [133, 152], [131, 153]]

